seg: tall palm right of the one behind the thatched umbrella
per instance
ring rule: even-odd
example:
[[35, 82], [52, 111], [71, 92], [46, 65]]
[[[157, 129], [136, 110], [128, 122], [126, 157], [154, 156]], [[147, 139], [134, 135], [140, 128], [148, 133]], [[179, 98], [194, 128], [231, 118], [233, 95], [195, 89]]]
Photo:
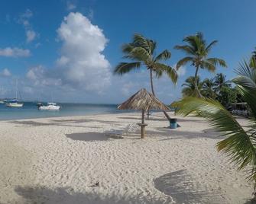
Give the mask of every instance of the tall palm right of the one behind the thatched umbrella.
[[[196, 68], [195, 72], [195, 80], [198, 75], [199, 69], [207, 69], [211, 72], [215, 72], [216, 65], [221, 65], [222, 67], [226, 67], [226, 63], [223, 59], [219, 58], [208, 58], [209, 52], [218, 41], [213, 40], [212, 43], [206, 44], [206, 40], [203, 39], [203, 33], [196, 33], [196, 35], [191, 35], [185, 37], [183, 42], [187, 43], [183, 46], [175, 46], [175, 49], [180, 49], [186, 53], [186, 57], [180, 59], [177, 62], [177, 69], [182, 65], [186, 65], [186, 63], [190, 62]], [[196, 84], [196, 93], [198, 97], [203, 97], [199, 92], [199, 89]]]

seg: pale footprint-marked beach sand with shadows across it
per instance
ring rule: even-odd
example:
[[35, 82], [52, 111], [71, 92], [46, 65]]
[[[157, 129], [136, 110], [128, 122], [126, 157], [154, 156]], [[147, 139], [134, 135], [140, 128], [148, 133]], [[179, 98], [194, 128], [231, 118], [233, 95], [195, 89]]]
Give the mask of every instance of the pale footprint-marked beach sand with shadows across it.
[[[245, 203], [253, 187], [202, 119], [163, 113], [0, 122], [0, 203]], [[245, 123], [245, 120], [241, 120]], [[129, 125], [129, 126], [128, 126]], [[122, 133], [123, 139], [118, 136]]]

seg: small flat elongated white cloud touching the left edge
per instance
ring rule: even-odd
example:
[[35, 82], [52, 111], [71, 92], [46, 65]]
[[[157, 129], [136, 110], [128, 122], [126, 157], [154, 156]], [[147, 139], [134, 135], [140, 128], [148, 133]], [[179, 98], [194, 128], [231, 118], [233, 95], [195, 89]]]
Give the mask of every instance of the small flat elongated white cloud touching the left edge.
[[0, 48], [0, 56], [6, 57], [27, 57], [30, 56], [31, 52], [29, 49], [21, 49], [18, 47], [6, 47]]

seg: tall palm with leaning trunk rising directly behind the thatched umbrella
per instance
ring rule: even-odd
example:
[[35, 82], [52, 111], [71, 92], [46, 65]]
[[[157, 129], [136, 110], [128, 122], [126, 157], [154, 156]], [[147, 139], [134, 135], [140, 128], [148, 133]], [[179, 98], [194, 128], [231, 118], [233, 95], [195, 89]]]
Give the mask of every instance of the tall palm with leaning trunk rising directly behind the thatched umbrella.
[[[115, 67], [115, 74], [123, 75], [132, 70], [139, 69], [143, 65], [150, 72], [151, 91], [154, 94], [153, 72], [160, 78], [163, 73], [166, 73], [174, 84], [177, 82], [177, 72], [163, 61], [170, 59], [170, 51], [165, 49], [160, 54], [156, 54], [157, 43], [142, 36], [141, 34], [134, 34], [131, 43], [125, 43], [122, 46], [122, 52], [125, 54], [125, 59], [131, 59], [131, 62], [121, 62]], [[167, 119], [170, 116], [164, 111]]]

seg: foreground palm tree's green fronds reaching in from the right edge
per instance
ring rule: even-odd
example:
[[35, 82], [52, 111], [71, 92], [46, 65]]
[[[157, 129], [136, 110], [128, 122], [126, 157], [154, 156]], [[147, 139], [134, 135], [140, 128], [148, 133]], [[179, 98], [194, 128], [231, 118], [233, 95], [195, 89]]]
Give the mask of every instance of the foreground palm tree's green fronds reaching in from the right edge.
[[248, 179], [256, 183], [256, 69], [251, 68], [250, 62], [245, 61], [240, 64], [236, 73], [238, 77], [232, 82], [237, 85], [242, 100], [251, 110], [248, 126], [241, 126], [216, 100], [186, 97], [177, 104], [183, 115], [199, 113], [199, 116], [209, 121], [210, 126], [221, 132], [225, 139], [217, 143], [218, 151], [227, 153], [231, 160], [238, 164], [238, 170], [247, 167]]

